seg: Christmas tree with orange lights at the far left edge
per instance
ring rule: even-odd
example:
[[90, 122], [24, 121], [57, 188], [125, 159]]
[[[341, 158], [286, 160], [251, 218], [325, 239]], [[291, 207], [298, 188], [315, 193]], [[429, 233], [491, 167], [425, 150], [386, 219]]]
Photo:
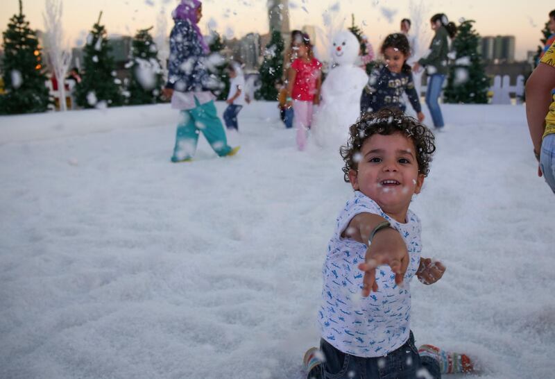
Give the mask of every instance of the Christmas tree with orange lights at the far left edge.
[[10, 18], [3, 40], [2, 69], [6, 94], [0, 95], [0, 113], [44, 112], [51, 103], [44, 84], [48, 78], [43, 71], [37, 34], [25, 21], [21, 0], [19, 15]]

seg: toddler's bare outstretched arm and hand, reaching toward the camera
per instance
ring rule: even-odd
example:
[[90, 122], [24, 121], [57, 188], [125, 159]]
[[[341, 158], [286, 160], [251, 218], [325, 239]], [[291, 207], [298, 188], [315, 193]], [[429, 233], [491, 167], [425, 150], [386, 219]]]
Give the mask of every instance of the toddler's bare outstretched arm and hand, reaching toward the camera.
[[[384, 221], [386, 220], [377, 214], [357, 214], [350, 221], [343, 236], [368, 244], [374, 228]], [[393, 228], [379, 230], [374, 235], [372, 244], [366, 250], [364, 263], [359, 264], [359, 269], [364, 271], [362, 296], [368, 296], [371, 291], [377, 291], [376, 267], [382, 264], [388, 264], [391, 267], [395, 273], [395, 283], [400, 284], [409, 266], [409, 252], [401, 235]]]

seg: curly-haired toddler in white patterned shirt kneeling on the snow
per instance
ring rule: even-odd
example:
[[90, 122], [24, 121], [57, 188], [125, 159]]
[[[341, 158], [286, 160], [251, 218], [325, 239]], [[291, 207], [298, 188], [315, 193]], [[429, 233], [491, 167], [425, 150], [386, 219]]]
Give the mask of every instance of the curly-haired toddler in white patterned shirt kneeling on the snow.
[[[355, 190], [339, 213], [323, 266], [320, 350], [309, 378], [416, 378], [472, 369], [466, 355], [414, 344], [413, 276], [427, 285], [441, 262], [421, 258], [420, 219], [409, 210], [429, 173], [434, 135], [400, 110], [363, 115], [341, 147], [344, 180]], [[420, 354], [419, 354], [420, 353]]]

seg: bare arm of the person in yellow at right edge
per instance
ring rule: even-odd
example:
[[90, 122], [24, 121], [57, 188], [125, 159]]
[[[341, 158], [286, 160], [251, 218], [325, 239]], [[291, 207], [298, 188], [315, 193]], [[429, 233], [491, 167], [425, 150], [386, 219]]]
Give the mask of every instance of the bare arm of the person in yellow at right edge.
[[536, 153], [540, 153], [545, 116], [552, 102], [551, 91], [554, 88], [555, 67], [540, 62], [526, 83], [526, 117]]

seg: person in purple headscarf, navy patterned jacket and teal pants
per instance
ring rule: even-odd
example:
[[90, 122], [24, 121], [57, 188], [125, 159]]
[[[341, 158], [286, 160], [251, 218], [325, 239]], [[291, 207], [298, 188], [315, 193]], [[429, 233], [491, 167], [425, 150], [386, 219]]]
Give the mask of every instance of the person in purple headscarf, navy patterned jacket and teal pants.
[[175, 25], [169, 37], [168, 81], [164, 96], [171, 96], [171, 108], [181, 111], [182, 120], [178, 124], [171, 162], [192, 160], [199, 133], [203, 133], [219, 156], [234, 155], [239, 146], [228, 145], [214, 106], [216, 97], [211, 92], [219, 81], [205, 65], [210, 50], [198, 28], [203, 16], [202, 3], [182, 0], [172, 16]]

